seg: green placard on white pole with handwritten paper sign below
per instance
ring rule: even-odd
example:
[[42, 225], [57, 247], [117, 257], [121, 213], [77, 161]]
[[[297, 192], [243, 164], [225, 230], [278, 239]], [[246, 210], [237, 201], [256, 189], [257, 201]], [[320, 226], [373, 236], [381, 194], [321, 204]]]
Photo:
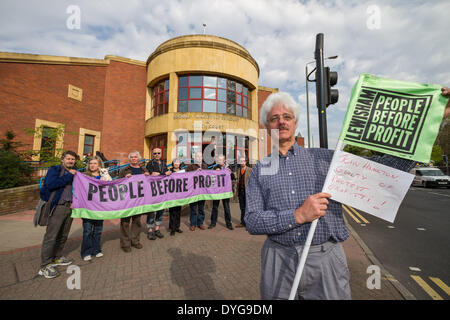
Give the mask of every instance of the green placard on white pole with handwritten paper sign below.
[[[330, 193], [333, 200], [393, 222], [413, 176], [347, 154], [342, 151], [343, 145], [347, 143], [400, 158], [429, 162], [447, 101], [439, 85], [361, 74], [352, 89], [322, 192]], [[345, 163], [345, 159], [349, 162]], [[350, 159], [355, 165], [352, 166]], [[373, 170], [367, 170], [369, 168]], [[373, 180], [370, 184], [361, 183], [363, 177], [369, 180], [370, 171]], [[311, 223], [308, 231], [289, 300], [297, 293], [317, 221]]]

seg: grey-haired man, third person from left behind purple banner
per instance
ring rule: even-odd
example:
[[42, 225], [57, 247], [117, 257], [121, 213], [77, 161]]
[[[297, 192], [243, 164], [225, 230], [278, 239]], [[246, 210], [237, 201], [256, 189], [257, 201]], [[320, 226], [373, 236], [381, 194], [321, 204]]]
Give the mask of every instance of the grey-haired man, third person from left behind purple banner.
[[[139, 151], [131, 151], [128, 154], [129, 165], [122, 168], [119, 172], [119, 178], [131, 177], [135, 174], [149, 175], [148, 170], [145, 168], [141, 161], [141, 154]], [[125, 252], [131, 252], [131, 247], [136, 249], [142, 249], [142, 244], [139, 241], [139, 235], [141, 233], [141, 214], [137, 214], [131, 217], [120, 219], [120, 247]], [[130, 230], [130, 219], [131, 230]]]

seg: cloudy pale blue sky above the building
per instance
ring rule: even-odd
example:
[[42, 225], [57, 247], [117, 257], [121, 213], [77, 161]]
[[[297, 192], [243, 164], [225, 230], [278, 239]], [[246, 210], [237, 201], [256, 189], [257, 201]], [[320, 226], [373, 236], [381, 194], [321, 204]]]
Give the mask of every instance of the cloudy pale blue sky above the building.
[[[314, 61], [315, 38], [323, 33], [324, 57], [338, 55], [325, 61], [339, 78], [339, 101], [327, 109], [334, 149], [359, 74], [450, 85], [449, 12], [448, 0], [1, 0], [0, 51], [146, 61], [177, 36], [227, 38], [257, 61], [259, 85], [298, 102], [297, 132], [308, 145], [305, 65]], [[311, 145], [318, 147], [315, 83], [309, 83], [309, 106]]]

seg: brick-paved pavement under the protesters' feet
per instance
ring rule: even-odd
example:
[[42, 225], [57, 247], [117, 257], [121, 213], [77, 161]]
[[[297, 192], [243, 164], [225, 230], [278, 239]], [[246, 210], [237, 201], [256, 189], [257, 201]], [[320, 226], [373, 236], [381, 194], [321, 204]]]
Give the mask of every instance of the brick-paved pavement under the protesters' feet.
[[[233, 225], [239, 223], [239, 204], [231, 202]], [[206, 203], [205, 225], [211, 217]], [[143, 248], [125, 253], [119, 246], [119, 220], [106, 220], [102, 235], [104, 257], [81, 259], [81, 219], [74, 219], [64, 255], [74, 259], [57, 267], [54, 279], [38, 276], [44, 227], [33, 226], [33, 210], [0, 216], [0, 299], [43, 300], [259, 300], [260, 252], [266, 236], [250, 235], [245, 228], [228, 230], [222, 205], [217, 226], [194, 232], [188, 229], [189, 213], [183, 210], [181, 234], [170, 236], [164, 216], [164, 238], [150, 241], [141, 233]], [[142, 217], [145, 226], [145, 216]], [[347, 224], [348, 225], [348, 224]], [[343, 243], [350, 269], [354, 300], [414, 299], [381, 265], [349, 226]], [[369, 289], [368, 267], [381, 270], [379, 288]], [[79, 269], [73, 266], [78, 266]], [[80, 288], [75, 276], [79, 280]], [[75, 288], [74, 288], [75, 287]]]

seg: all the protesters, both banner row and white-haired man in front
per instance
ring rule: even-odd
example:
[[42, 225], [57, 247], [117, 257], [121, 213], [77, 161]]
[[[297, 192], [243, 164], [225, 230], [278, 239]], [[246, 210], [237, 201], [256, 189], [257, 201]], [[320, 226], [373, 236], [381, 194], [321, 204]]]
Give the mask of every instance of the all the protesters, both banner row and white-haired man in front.
[[[450, 88], [442, 88], [442, 95], [450, 97]], [[324, 148], [302, 148], [295, 139], [299, 120], [299, 106], [288, 93], [272, 93], [260, 110], [260, 123], [275, 138], [272, 154], [262, 159], [253, 169], [246, 167], [241, 158], [240, 170], [235, 172], [237, 193], [241, 208], [241, 226], [250, 234], [267, 235], [261, 249], [262, 299], [288, 299], [292, 289], [296, 266], [303, 254], [309, 237], [309, 228], [317, 221], [317, 230], [312, 238], [308, 262], [304, 265], [305, 277], [297, 291], [296, 299], [351, 299], [350, 271], [342, 242], [349, 237], [342, 214], [342, 206], [322, 192], [327, 171], [333, 158], [333, 150]], [[450, 100], [444, 119], [450, 116]], [[71, 201], [72, 181], [77, 172], [73, 166], [76, 154], [67, 151], [63, 154], [60, 166], [52, 167], [41, 189], [41, 199], [49, 201], [55, 208], [50, 217], [42, 244], [42, 265], [39, 274], [54, 278], [57, 265], [68, 265], [72, 261], [62, 256], [62, 250], [72, 223]], [[144, 167], [138, 152], [131, 152], [129, 165], [122, 169], [119, 177], [133, 174], [170, 175], [180, 171], [180, 163], [175, 159], [171, 170], [161, 161], [161, 149], [152, 150], [152, 161]], [[101, 161], [89, 161], [87, 174], [100, 178], [98, 168]], [[415, 162], [392, 155], [372, 157], [384, 165], [409, 171]], [[229, 170], [224, 157], [218, 157], [215, 170]], [[274, 169], [276, 168], [276, 169]], [[194, 155], [194, 163], [186, 171], [205, 170], [202, 154]], [[248, 182], [248, 184], [247, 184]], [[51, 197], [54, 193], [55, 196]], [[243, 200], [243, 201], [242, 201]], [[247, 204], [245, 204], [247, 202]], [[217, 221], [220, 200], [213, 202], [211, 224]], [[229, 212], [229, 199], [222, 200], [225, 222], [233, 229]], [[204, 201], [190, 204], [190, 230], [204, 230]], [[180, 207], [170, 210], [169, 228], [171, 234], [181, 232]], [[245, 216], [244, 216], [245, 214]], [[162, 211], [148, 213], [148, 238], [162, 238], [160, 232]], [[86, 221], [85, 221], [86, 220]], [[131, 220], [131, 228], [130, 228]], [[139, 242], [141, 217], [139, 215], [122, 218], [120, 223], [120, 245], [129, 252], [131, 247], [142, 248]], [[83, 219], [82, 256], [101, 256], [100, 235], [102, 222]], [[295, 288], [294, 288], [295, 290]]]

